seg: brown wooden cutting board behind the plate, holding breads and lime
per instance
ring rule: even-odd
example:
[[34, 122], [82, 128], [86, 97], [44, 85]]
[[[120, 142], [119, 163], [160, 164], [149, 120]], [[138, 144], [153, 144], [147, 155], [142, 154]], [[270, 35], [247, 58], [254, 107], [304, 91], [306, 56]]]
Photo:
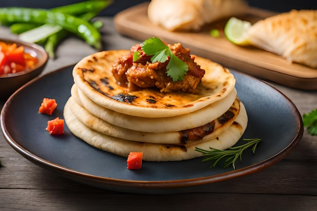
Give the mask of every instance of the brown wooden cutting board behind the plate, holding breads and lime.
[[[143, 3], [118, 13], [114, 17], [116, 30], [140, 40], [140, 43], [153, 36], [170, 44], [181, 43], [192, 54], [211, 59], [225, 67], [289, 87], [317, 90], [317, 69], [291, 63], [281, 56], [257, 48], [236, 46], [223, 33], [219, 37], [212, 37], [210, 30], [222, 31], [227, 20], [206, 25], [199, 32], [171, 32], [148, 20], [147, 7], [148, 3]], [[248, 14], [238, 18], [254, 23], [272, 15], [273, 12], [250, 8]]]

